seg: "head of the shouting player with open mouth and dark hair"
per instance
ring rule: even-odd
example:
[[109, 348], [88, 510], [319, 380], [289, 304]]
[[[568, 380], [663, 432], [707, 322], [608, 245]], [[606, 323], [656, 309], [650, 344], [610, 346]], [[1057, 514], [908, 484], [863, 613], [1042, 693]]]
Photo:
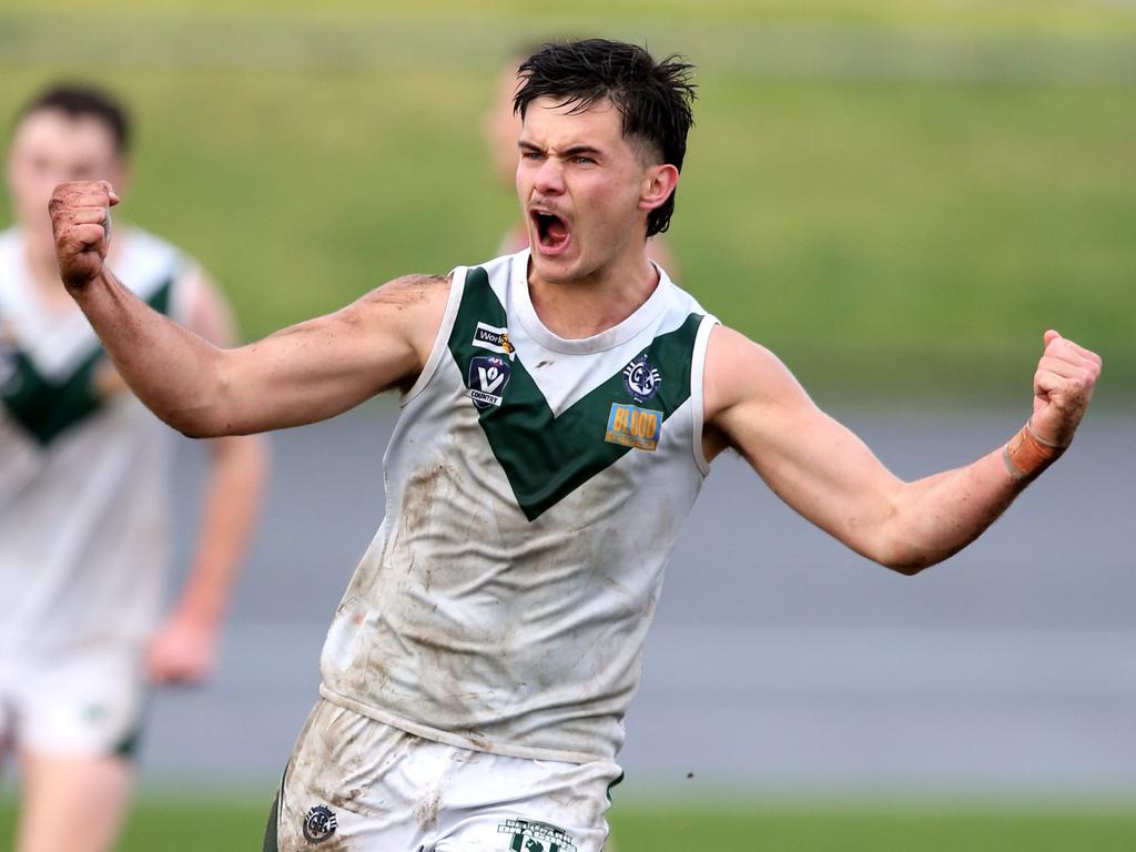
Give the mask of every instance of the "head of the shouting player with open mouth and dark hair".
[[667, 229], [693, 123], [691, 70], [601, 39], [545, 44], [521, 62], [517, 192], [546, 279], [588, 275]]

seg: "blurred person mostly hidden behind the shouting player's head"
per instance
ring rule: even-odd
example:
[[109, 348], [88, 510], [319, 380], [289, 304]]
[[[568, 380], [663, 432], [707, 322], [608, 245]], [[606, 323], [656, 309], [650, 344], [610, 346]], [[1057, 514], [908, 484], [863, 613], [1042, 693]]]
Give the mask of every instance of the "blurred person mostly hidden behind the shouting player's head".
[[[501, 186], [508, 187], [510, 192], [517, 191], [517, 164], [520, 160], [520, 151], [517, 148], [517, 140], [520, 139], [520, 116], [513, 109], [513, 98], [521, 83], [517, 76], [517, 68], [538, 49], [540, 44], [533, 44], [531, 48], [516, 51], [506, 60], [493, 86], [493, 100], [482, 119], [482, 131], [493, 173]], [[512, 254], [527, 248], [528, 225], [521, 218], [506, 232], [496, 253]], [[666, 269], [673, 279], [679, 277], [675, 257], [661, 234], [648, 240], [646, 256]]]

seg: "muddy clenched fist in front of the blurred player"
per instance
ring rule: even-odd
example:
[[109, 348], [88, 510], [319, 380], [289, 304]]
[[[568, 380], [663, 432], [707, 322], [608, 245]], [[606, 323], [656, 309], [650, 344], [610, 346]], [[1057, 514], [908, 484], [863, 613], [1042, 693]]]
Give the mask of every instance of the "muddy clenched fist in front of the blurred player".
[[110, 208], [118, 195], [106, 181], [61, 183], [48, 211], [59, 275], [68, 290], [86, 286], [102, 270], [110, 245]]

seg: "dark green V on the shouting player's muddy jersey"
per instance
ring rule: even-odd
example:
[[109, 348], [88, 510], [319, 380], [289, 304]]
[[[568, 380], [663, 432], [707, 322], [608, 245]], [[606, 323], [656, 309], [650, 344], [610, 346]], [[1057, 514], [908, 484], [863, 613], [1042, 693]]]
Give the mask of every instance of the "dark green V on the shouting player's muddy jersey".
[[[651, 408], [662, 412], [663, 424], [691, 395], [691, 353], [701, 320], [701, 315], [691, 314], [682, 326], [659, 335], [638, 353], [665, 377], [650, 400]], [[500, 328], [507, 321], [485, 270], [470, 269], [449, 341], [462, 377], [476, 368], [474, 359], [486, 357], [485, 348], [474, 343], [478, 323]], [[612, 403], [630, 406], [635, 400], [620, 368], [557, 417], [516, 353], [511, 361], [501, 360], [508, 375], [498, 385], [500, 396], [475, 394], [475, 400], [483, 400], [478, 419], [517, 503], [534, 520], [632, 451], [630, 445], [604, 438]]]

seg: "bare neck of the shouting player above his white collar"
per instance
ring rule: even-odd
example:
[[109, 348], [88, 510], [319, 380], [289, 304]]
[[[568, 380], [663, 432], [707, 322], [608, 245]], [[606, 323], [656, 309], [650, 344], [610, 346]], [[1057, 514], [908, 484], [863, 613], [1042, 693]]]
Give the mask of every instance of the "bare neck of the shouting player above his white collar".
[[550, 332], [565, 340], [613, 328], [638, 310], [657, 286], [659, 270], [644, 251], [582, 278], [557, 283], [542, 279], [529, 260], [533, 309]]

